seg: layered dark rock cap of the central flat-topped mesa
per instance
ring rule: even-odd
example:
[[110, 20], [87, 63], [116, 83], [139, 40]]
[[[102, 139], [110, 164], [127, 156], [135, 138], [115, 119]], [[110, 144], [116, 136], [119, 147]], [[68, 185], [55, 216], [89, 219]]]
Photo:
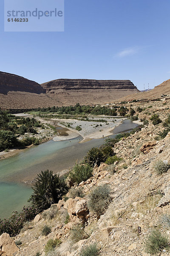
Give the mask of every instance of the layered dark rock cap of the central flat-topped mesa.
[[51, 90], [135, 90], [130, 80], [57, 79], [41, 84], [47, 92]]

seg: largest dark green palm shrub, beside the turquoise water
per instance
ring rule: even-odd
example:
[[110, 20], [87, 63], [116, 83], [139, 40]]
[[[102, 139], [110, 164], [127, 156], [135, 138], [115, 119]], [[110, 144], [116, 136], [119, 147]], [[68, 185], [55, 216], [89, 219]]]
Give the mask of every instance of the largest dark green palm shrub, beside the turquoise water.
[[62, 195], [68, 192], [68, 187], [65, 181], [60, 180], [59, 175], [53, 175], [52, 171], [46, 170], [37, 176], [29, 201], [32, 201], [41, 212], [48, 209], [51, 204], [57, 204], [59, 199], [62, 199]]

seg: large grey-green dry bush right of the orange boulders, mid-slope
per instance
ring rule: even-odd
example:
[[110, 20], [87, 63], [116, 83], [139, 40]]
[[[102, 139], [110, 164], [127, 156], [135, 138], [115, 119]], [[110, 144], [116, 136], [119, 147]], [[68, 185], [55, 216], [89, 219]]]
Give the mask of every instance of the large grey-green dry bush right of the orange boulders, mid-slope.
[[89, 194], [89, 209], [98, 216], [102, 215], [111, 202], [110, 192], [111, 189], [108, 184], [95, 187]]

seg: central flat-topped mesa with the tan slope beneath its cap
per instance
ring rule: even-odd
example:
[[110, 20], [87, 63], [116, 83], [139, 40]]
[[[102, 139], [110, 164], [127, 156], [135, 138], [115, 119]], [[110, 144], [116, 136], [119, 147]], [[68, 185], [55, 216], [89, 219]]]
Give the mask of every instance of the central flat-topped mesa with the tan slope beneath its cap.
[[41, 84], [62, 105], [105, 104], [139, 90], [130, 80], [57, 79]]

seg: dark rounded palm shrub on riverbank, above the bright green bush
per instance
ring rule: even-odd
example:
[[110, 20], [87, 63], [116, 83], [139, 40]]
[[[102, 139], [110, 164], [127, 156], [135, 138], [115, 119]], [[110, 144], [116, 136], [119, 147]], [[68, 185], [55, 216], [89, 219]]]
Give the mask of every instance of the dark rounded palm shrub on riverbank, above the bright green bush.
[[95, 164], [99, 166], [104, 159], [105, 157], [100, 148], [91, 148], [85, 156], [85, 162], [89, 163], [91, 166], [95, 166]]

